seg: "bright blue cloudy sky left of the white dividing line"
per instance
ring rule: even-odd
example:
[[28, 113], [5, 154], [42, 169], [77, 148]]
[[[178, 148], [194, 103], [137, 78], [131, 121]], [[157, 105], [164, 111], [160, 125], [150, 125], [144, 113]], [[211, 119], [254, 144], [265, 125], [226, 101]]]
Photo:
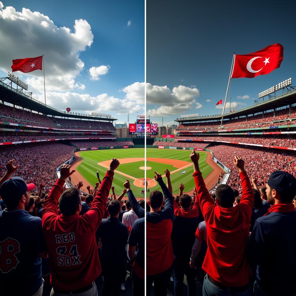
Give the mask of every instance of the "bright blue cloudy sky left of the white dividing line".
[[[111, 113], [118, 122], [144, 112], [144, 1], [2, 1], [0, 8], [1, 76], [12, 59], [44, 54], [53, 107]], [[41, 71], [15, 74], [44, 100]]]

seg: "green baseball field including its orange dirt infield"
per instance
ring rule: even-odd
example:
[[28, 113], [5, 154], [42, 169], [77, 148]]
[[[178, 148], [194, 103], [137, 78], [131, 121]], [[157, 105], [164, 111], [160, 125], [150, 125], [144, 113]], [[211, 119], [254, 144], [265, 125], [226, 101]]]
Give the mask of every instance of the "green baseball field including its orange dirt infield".
[[[185, 186], [184, 192], [189, 192], [194, 188], [193, 166], [189, 157], [191, 151], [148, 148], [146, 153], [146, 178], [150, 191], [160, 189], [154, 181], [154, 171], [164, 175], [166, 168], [171, 172], [173, 194], [179, 193], [180, 183], [183, 183]], [[211, 173], [213, 168], [206, 163], [207, 153], [199, 153], [200, 170], [205, 178]], [[79, 155], [82, 161], [76, 168], [76, 171], [85, 179], [84, 183], [94, 187], [94, 184], [97, 182], [96, 171], [99, 171], [102, 180], [112, 157], [114, 157], [120, 160], [120, 165], [116, 170], [117, 172], [115, 172], [113, 180], [115, 194], [118, 196], [122, 193], [123, 183], [126, 179], [129, 179], [135, 196], [144, 198], [144, 195], [141, 194], [141, 190], [144, 189], [144, 148], [80, 151]], [[163, 179], [166, 183], [165, 176], [163, 176]], [[84, 184], [84, 186], [86, 187], [88, 184]]]

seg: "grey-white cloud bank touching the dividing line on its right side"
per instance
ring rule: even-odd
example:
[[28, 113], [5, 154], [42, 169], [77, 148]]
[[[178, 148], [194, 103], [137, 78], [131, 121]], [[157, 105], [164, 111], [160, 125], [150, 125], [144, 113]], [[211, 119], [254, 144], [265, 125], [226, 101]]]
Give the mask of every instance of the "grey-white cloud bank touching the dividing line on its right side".
[[169, 116], [186, 112], [194, 107], [201, 108], [202, 105], [197, 103], [195, 98], [200, 96], [197, 88], [187, 86], [175, 86], [172, 91], [167, 86], [157, 86], [150, 83], [146, 84], [146, 101], [147, 104], [161, 104], [162, 106], [155, 109], [149, 109], [147, 114], [151, 116]]

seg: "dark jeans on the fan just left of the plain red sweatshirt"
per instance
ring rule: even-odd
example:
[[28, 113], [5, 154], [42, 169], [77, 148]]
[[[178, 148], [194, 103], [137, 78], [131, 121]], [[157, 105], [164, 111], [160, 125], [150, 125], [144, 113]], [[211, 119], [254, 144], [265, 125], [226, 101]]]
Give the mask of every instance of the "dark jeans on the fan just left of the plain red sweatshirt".
[[173, 263], [175, 296], [183, 296], [184, 274], [186, 275], [187, 280], [188, 296], [195, 295], [195, 268], [190, 267], [189, 260], [190, 258], [175, 258]]

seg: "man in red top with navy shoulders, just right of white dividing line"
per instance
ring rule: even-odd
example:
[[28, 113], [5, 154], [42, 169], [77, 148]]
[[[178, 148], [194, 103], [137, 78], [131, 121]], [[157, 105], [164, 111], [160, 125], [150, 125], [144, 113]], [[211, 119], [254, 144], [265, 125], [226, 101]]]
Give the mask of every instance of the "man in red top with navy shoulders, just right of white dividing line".
[[[155, 295], [165, 296], [174, 261], [171, 241], [174, 215], [173, 196], [165, 186], [161, 174], [155, 172], [154, 178], [163, 194], [155, 190], [149, 195], [150, 212], [146, 213], [146, 295], [150, 295], [154, 281]], [[164, 209], [161, 210], [163, 195], [165, 204]]]

